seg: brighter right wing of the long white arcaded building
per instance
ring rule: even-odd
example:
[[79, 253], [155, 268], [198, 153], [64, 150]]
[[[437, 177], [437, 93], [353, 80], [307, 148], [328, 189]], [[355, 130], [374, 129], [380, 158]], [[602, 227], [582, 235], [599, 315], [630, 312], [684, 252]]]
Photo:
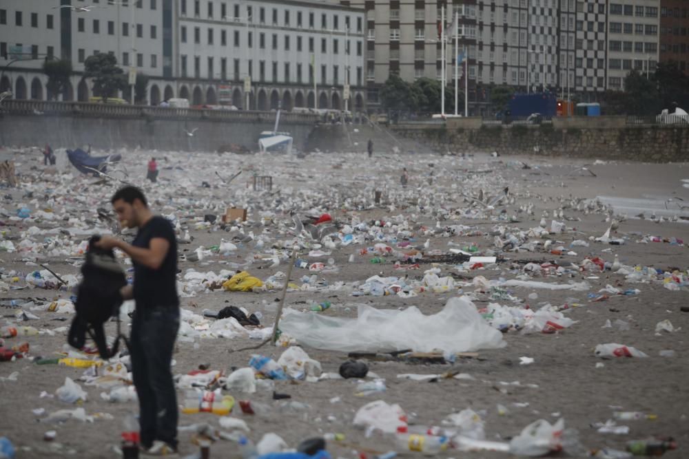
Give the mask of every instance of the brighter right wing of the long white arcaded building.
[[[192, 104], [223, 97], [245, 107], [345, 108], [364, 103], [364, 10], [322, 1], [178, 2], [181, 96]], [[313, 66], [315, 65], [315, 75]], [[349, 72], [347, 72], [349, 69]]]

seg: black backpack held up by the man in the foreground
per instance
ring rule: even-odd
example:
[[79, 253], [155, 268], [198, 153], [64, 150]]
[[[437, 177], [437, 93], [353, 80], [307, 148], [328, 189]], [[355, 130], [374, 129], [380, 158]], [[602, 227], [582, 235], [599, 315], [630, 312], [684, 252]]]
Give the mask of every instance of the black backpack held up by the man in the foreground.
[[89, 239], [85, 261], [81, 266], [83, 280], [78, 286], [74, 303], [76, 315], [72, 320], [67, 342], [74, 348], [81, 349], [88, 333], [96, 343], [101, 359], [107, 360], [119, 350], [121, 334], [118, 321], [118, 337], [112, 350], [108, 350], [103, 325], [110, 317], [119, 314], [123, 301], [120, 289], [127, 285], [127, 278], [112, 250], [94, 245], [100, 238], [92, 236]]

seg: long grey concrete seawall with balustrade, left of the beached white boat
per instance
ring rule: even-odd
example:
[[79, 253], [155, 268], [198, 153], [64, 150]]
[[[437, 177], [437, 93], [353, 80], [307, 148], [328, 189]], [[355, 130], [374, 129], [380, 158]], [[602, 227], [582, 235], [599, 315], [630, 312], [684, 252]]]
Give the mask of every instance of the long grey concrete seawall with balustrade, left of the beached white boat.
[[[274, 128], [271, 112], [165, 109], [12, 100], [3, 102], [0, 145], [98, 149], [121, 147], [158, 150], [218, 151], [238, 144], [258, 149], [261, 131]], [[304, 149], [316, 116], [287, 114], [280, 131], [289, 131], [294, 147]], [[196, 131], [194, 131], [196, 129]], [[187, 132], [194, 131], [194, 136]]]

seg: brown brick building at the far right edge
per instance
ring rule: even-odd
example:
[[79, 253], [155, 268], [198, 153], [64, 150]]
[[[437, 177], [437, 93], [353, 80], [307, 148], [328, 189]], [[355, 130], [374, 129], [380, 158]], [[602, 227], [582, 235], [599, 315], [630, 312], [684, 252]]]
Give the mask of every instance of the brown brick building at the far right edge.
[[689, 75], [689, 3], [685, 0], [660, 1], [660, 61], [675, 61]]

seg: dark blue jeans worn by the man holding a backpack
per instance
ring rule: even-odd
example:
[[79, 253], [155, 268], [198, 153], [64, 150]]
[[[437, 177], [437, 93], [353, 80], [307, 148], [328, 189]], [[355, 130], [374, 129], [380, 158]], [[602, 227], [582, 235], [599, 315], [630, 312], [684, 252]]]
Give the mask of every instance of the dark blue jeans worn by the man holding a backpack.
[[178, 407], [170, 369], [177, 330], [177, 306], [134, 313], [130, 352], [143, 447], [154, 440], [177, 447]]

